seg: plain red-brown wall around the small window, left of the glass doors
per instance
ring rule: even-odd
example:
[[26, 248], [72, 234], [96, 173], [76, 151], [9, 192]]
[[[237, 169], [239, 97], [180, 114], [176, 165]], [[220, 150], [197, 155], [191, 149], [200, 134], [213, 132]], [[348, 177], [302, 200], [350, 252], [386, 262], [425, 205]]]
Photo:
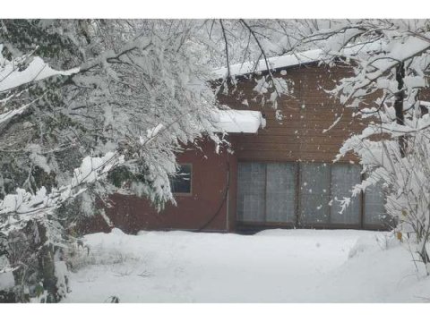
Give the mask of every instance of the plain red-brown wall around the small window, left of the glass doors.
[[[200, 147], [201, 150], [189, 149], [177, 156], [179, 163], [192, 164], [190, 195], [176, 195], [176, 206], [168, 204], [158, 212], [147, 199], [115, 194], [110, 198], [114, 207], [105, 209], [113, 225], [125, 233], [172, 229], [228, 231], [232, 225], [228, 220], [228, 206], [236, 215], [236, 202], [230, 202], [236, 195], [236, 174], [230, 175], [236, 172], [236, 156], [225, 148], [217, 154], [211, 140], [203, 140]], [[110, 229], [101, 216], [82, 228], [85, 233]]]

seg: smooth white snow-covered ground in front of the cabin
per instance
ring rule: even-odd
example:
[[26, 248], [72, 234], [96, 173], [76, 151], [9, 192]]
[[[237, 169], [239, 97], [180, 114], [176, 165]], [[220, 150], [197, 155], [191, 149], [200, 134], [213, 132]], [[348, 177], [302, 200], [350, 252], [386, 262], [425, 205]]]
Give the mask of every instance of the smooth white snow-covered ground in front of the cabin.
[[65, 302], [430, 301], [430, 277], [390, 233], [114, 229], [85, 240]]

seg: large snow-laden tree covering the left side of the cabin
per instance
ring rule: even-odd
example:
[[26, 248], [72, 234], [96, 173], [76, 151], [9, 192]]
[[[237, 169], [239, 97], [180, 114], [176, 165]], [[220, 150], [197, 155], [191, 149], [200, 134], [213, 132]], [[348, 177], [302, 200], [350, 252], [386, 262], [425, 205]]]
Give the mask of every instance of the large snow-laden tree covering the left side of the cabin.
[[[53, 253], [79, 216], [98, 211], [96, 199], [121, 192], [158, 208], [174, 202], [176, 153], [203, 135], [224, 142], [210, 117], [218, 106], [211, 69], [226, 57], [229, 65], [282, 51], [284, 31], [269, 24], [288, 23], [0, 21], [0, 254], [17, 301], [28, 301], [29, 269], [58, 293]], [[276, 102], [285, 84], [272, 82]], [[16, 242], [33, 255], [13, 257]]]

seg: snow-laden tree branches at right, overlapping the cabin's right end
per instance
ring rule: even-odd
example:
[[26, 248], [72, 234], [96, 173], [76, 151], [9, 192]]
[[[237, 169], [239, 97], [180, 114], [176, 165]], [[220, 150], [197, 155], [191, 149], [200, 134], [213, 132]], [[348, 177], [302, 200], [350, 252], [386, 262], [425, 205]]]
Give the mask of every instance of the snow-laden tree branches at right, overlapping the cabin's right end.
[[[326, 64], [343, 64], [350, 75], [338, 81], [331, 94], [366, 129], [343, 144], [360, 158], [366, 179], [352, 194], [383, 184], [385, 208], [399, 223], [404, 239], [415, 242], [419, 260], [430, 273], [430, 121], [427, 100], [430, 74], [430, 21], [355, 20], [306, 23], [296, 46], [322, 50]], [[348, 207], [350, 199], [341, 201]]]

